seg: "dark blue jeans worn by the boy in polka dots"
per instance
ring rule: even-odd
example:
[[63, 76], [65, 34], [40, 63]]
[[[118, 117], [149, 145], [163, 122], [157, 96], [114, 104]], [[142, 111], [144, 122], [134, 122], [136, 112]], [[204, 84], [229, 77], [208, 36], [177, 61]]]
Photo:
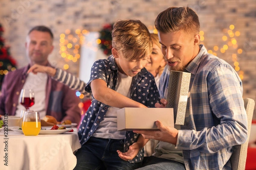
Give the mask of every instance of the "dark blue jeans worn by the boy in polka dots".
[[142, 162], [129, 163], [122, 160], [116, 150], [123, 152], [124, 140], [90, 137], [76, 152], [74, 170], [133, 170]]

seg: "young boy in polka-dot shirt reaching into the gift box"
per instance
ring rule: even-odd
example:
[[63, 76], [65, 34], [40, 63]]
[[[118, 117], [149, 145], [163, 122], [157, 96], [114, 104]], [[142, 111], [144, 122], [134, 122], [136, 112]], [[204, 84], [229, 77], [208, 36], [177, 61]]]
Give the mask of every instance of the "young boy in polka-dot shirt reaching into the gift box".
[[[153, 46], [147, 27], [139, 20], [119, 20], [112, 39], [113, 55], [94, 63], [85, 87], [93, 99], [79, 127], [82, 147], [76, 152], [76, 170], [140, 167], [148, 140], [132, 131], [118, 131], [116, 111], [154, 107], [160, 100], [154, 76], [144, 68]], [[129, 147], [127, 154], [134, 159], [124, 161], [116, 151], [126, 152]]]

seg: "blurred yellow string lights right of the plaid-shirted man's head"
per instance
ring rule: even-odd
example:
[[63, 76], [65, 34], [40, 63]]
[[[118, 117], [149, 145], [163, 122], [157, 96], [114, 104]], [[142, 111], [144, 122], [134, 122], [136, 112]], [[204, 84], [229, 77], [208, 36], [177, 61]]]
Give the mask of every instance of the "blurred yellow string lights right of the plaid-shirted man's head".
[[[222, 46], [215, 45], [213, 47], [213, 51], [208, 50], [208, 53], [217, 56], [218, 51], [221, 52], [222, 54], [224, 54], [229, 49], [235, 50], [236, 52], [234, 52], [232, 54], [232, 61], [233, 61], [234, 69], [238, 72], [239, 77], [241, 79], [244, 79], [244, 71], [240, 70], [239, 62], [237, 59], [237, 54], [242, 54], [242, 52], [243, 52], [243, 50], [241, 48], [238, 48], [238, 44], [237, 44], [237, 40], [236, 40], [236, 37], [240, 36], [240, 31], [234, 31], [234, 29], [235, 29], [234, 25], [230, 25], [229, 29], [224, 28], [223, 33], [225, 35], [222, 36], [222, 40], [224, 41], [225, 44]], [[204, 31], [200, 31], [199, 34], [200, 34], [200, 40], [204, 41]]]

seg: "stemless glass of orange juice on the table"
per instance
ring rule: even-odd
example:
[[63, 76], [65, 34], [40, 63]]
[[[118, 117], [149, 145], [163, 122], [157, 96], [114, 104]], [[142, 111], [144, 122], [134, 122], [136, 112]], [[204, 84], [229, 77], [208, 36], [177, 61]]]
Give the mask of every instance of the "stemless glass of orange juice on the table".
[[25, 111], [21, 128], [24, 135], [37, 136], [41, 130], [41, 120], [39, 112]]

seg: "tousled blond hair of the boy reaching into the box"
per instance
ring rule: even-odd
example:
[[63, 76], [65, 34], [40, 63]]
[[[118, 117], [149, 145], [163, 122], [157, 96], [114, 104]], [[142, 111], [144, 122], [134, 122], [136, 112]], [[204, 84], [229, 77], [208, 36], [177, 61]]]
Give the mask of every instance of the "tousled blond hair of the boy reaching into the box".
[[140, 20], [119, 20], [113, 25], [112, 46], [126, 59], [149, 56], [153, 42], [148, 28]]

